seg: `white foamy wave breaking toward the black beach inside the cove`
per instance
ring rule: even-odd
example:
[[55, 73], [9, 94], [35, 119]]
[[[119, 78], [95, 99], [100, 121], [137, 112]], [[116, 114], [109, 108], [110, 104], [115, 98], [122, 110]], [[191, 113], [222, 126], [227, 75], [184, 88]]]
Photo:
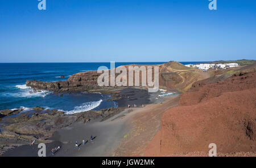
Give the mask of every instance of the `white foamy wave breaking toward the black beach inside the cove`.
[[74, 110], [67, 111], [66, 113], [67, 114], [75, 114], [75, 113], [80, 113], [83, 111], [90, 111], [90, 110], [95, 109], [96, 107], [100, 106], [101, 102], [102, 102], [102, 100], [86, 102], [80, 106], [76, 106]]

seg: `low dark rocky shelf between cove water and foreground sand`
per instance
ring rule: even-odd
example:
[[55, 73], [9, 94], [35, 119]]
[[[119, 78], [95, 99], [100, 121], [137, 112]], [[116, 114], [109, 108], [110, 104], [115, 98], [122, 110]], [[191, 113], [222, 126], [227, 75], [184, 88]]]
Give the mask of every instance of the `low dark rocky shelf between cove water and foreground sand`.
[[[10, 115], [13, 114], [12, 111], [14, 110], [2, 110], [0, 112]], [[2, 118], [1, 128], [3, 131], [0, 132], [0, 140], [22, 140], [31, 143], [31, 140], [37, 139], [39, 142], [47, 143], [53, 132], [60, 128], [75, 122], [86, 123], [99, 117], [104, 120], [121, 111], [122, 108], [110, 108], [67, 115], [63, 111], [43, 110], [42, 107], [34, 107], [30, 111], [19, 113], [14, 117]]]

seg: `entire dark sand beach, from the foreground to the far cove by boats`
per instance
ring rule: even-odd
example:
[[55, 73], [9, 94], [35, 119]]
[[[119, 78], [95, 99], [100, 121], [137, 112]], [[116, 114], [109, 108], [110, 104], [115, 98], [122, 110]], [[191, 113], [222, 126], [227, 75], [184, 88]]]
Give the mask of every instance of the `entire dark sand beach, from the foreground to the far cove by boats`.
[[[156, 100], [160, 92], [148, 93], [146, 89], [125, 88], [119, 94], [122, 98], [117, 100], [118, 106], [127, 107], [130, 104], [133, 107], [136, 104], [139, 108], [142, 104], [146, 105], [164, 101], [164, 98]], [[51, 137], [53, 142], [46, 144], [47, 156], [51, 156], [51, 149], [59, 145], [61, 149], [55, 156], [111, 156], [123, 139], [123, 136], [129, 132], [130, 128], [127, 126], [124, 116], [131, 109], [125, 109], [121, 113], [104, 120], [104, 122], [100, 122], [102, 118], [98, 118], [85, 124], [74, 123], [72, 126], [56, 131]], [[90, 141], [91, 135], [95, 137], [93, 141]], [[88, 142], [85, 145], [80, 145], [79, 149], [76, 149], [75, 141], [81, 144], [82, 139], [88, 140]], [[22, 145], [8, 150], [3, 156], [36, 157], [38, 156], [38, 150], [38, 144], [32, 147], [30, 145]]]

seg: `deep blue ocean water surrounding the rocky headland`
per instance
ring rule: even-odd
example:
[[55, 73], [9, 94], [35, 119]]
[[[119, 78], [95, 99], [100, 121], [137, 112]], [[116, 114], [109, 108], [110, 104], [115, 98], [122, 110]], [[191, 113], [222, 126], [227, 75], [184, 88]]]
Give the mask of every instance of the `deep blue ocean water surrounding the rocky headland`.
[[[161, 64], [165, 62], [116, 62], [115, 67], [126, 64]], [[181, 62], [183, 64], [200, 62]], [[106, 101], [110, 95], [100, 93], [65, 93], [63, 96], [48, 91], [30, 93], [26, 80], [59, 81], [69, 76], [100, 66], [110, 68], [110, 63], [0, 63], [0, 110], [27, 109], [42, 106], [59, 109], [69, 114], [87, 110], [117, 107], [114, 101]], [[64, 75], [64, 78], [60, 78]]]

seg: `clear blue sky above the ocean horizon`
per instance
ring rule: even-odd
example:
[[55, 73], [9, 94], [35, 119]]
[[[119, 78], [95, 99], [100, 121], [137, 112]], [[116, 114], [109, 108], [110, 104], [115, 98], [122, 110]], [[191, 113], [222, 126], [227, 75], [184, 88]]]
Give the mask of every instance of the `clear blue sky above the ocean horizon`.
[[256, 1], [0, 0], [0, 62], [256, 59]]

